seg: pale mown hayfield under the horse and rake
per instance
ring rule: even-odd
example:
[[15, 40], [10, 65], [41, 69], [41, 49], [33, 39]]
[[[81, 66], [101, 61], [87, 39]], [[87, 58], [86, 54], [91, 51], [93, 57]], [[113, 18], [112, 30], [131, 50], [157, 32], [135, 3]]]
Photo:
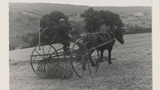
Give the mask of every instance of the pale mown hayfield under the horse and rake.
[[125, 44], [113, 48], [113, 64], [101, 63], [94, 77], [67, 80], [38, 78], [29, 64], [33, 48], [11, 51], [10, 90], [152, 90], [151, 37], [125, 35]]

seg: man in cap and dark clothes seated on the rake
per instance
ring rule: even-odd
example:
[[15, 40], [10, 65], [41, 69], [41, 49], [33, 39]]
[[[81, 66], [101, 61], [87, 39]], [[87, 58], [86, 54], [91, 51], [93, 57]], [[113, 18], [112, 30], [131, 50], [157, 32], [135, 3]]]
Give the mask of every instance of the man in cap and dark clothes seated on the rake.
[[69, 53], [70, 35], [68, 34], [69, 27], [66, 25], [65, 19], [59, 19], [59, 25], [55, 27], [53, 43], [63, 44], [63, 49], [66, 54]]

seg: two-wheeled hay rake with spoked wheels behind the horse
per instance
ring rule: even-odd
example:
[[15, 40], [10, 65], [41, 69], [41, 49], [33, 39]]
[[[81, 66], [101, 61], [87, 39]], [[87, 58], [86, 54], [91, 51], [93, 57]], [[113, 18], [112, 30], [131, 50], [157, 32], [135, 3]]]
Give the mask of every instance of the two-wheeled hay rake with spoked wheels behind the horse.
[[[61, 63], [65, 63], [65, 68], [72, 68], [72, 71], [78, 77], [84, 75], [92, 75], [99, 68], [99, 52], [94, 48], [87, 49], [86, 45], [80, 48], [77, 43], [83, 43], [83, 39], [78, 39], [75, 43], [70, 44], [70, 54], [66, 55], [63, 51], [61, 44], [44, 44], [37, 45], [31, 54], [31, 67], [33, 71], [38, 75], [47, 75], [48, 68], [53, 65], [54, 68], [61, 68]], [[97, 65], [91, 66], [90, 59], [92, 59]], [[67, 69], [66, 69], [67, 70]], [[46, 76], [43, 76], [46, 77]]]

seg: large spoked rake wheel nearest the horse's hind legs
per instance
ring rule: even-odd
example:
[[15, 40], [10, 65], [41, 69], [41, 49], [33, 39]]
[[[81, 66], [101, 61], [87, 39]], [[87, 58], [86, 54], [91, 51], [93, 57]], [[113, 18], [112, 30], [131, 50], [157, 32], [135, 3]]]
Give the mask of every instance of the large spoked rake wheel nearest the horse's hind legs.
[[83, 39], [78, 39], [71, 49], [73, 71], [80, 78], [93, 76], [99, 68], [99, 52], [97, 50], [87, 50], [85, 44], [81, 48], [78, 43], [83, 43]]

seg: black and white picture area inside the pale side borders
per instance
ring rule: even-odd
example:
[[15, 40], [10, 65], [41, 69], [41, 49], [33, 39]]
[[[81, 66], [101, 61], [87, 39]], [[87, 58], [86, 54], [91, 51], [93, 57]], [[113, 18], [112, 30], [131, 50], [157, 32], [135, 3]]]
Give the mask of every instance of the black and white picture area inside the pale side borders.
[[152, 0], [8, 7], [10, 90], [153, 90]]

